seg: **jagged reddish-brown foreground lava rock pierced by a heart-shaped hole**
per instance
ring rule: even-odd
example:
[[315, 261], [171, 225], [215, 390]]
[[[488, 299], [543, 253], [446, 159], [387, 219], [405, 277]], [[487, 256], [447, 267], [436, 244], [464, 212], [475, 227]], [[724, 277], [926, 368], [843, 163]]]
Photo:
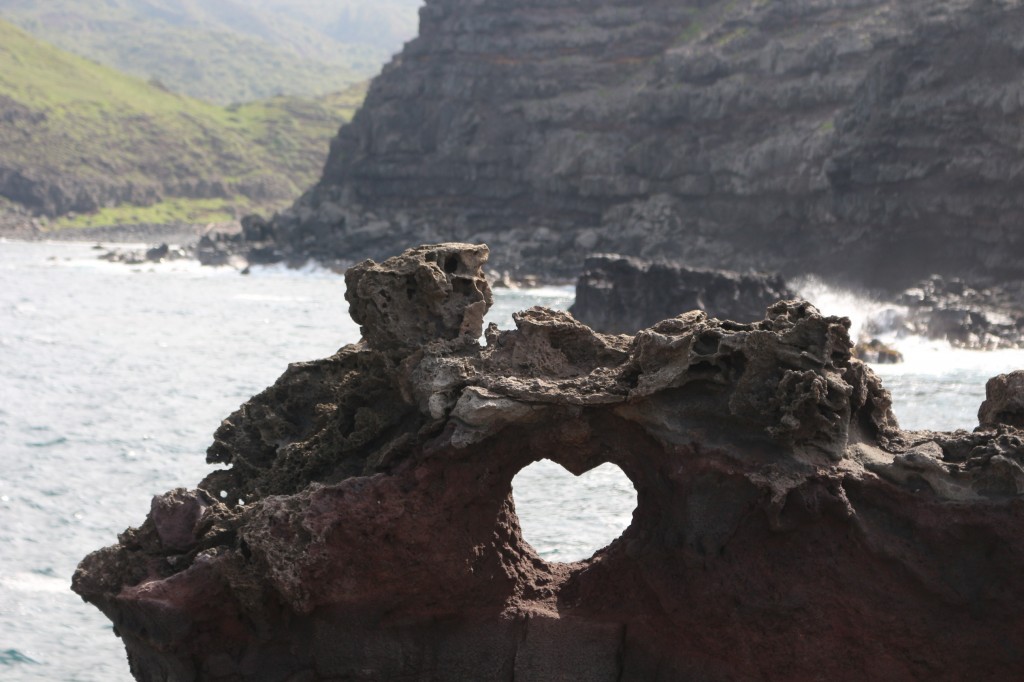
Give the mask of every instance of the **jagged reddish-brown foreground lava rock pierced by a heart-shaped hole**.
[[[478, 339], [483, 246], [346, 275], [362, 340], [228, 417], [74, 589], [138, 680], [1016, 680], [1024, 432], [901, 431], [803, 301], [635, 336], [530, 308]], [[995, 420], [995, 423], [992, 423]], [[578, 563], [511, 482], [605, 462], [632, 524]]]

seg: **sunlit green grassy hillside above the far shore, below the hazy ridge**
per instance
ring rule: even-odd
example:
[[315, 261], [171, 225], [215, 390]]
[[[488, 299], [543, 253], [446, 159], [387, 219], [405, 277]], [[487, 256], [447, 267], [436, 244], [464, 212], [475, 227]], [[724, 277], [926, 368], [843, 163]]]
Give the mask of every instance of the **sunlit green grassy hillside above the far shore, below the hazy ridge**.
[[315, 181], [362, 94], [217, 106], [0, 22], [0, 196], [48, 215], [185, 199], [287, 203]]

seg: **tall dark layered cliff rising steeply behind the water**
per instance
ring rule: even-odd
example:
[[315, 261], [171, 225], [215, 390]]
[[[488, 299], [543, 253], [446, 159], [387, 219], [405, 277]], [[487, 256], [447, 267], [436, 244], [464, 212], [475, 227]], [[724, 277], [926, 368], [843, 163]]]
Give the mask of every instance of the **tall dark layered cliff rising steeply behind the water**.
[[1024, 273], [1019, 0], [428, 0], [280, 242]]

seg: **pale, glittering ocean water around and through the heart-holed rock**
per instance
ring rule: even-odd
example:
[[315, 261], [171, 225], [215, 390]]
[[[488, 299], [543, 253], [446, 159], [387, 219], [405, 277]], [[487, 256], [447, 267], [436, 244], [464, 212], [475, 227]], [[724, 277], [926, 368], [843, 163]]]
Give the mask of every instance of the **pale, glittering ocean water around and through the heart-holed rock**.
[[[220, 420], [290, 361], [358, 337], [344, 283], [317, 269], [241, 276], [190, 262], [96, 259], [88, 245], [0, 241], [0, 680], [128, 682], [111, 625], [70, 589], [78, 561], [145, 516], [151, 498], [195, 485]], [[828, 313], [869, 301], [815, 292]], [[828, 298], [833, 296], [834, 298]], [[488, 319], [565, 308], [571, 289], [498, 290]], [[973, 428], [985, 380], [1024, 352], [952, 351], [895, 340], [907, 363], [877, 368], [907, 428]], [[628, 525], [629, 479], [575, 478], [541, 462], [513, 482], [543, 556], [590, 556]]]

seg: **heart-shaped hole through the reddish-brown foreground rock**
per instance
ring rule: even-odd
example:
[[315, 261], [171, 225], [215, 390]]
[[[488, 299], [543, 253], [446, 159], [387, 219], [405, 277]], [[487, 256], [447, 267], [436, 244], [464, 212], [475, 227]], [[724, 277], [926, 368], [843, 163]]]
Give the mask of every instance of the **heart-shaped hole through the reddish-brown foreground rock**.
[[581, 476], [541, 460], [512, 479], [523, 539], [546, 561], [580, 561], [618, 538], [633, 520], [637, 492], [614, 464]]

